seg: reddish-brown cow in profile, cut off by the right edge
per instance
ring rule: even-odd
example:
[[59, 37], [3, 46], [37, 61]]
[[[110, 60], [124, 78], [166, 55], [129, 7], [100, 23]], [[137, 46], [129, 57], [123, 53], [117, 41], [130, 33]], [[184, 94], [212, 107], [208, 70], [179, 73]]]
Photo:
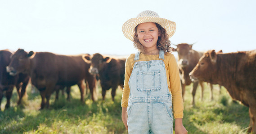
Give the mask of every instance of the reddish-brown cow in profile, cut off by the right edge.
[[230, 96], [249, 107], [248, 132], [256, 134], [256, 50], [216, 54], [204, 53], [190, 76], [223, 85]]

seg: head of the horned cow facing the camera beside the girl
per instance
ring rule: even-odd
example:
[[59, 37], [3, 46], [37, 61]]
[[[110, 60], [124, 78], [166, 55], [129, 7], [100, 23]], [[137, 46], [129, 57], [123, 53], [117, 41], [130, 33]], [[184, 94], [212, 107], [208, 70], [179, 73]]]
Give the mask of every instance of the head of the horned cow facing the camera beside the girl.
[[187, 67], [189, 66], [189, 57], [192, 53], [192, 46], [193, 44], [189, 45], [186, 43], [175, 45], [177, 48], [173, 48], [172, 51], [178, 52], [178, 58], [179, 58], [179, 65], [181, 67]]

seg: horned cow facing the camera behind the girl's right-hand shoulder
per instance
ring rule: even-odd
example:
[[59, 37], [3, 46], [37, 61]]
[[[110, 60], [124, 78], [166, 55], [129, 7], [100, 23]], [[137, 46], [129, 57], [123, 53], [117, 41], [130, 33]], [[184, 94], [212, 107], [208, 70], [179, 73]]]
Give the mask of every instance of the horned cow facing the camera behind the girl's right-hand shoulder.
[[[192, 49], [193, 44], [181, 43], [177, 46], [177, 48], [173, 48], [172, 51], [178, 52], [178, 66], [181, 73], [181, 88], [182, 88], [182, 96], [185, 94], [185, 86], [193, 83], [193, 87], [190, 92], [192, 93], [191, 104], [195, 105], [195, 94], [198, 87], [198, 83], [201, 86], [202, 94], [201, 100], [203, 98], [204, 84], [202, 80], [191, 80], [189, 77], [189, 72], [193, 70], [193, 68], [198, 63], [199, 59], [202, 57], [203, 52], [198, 52]], [[213, 100], [212, 96], [212, 85], [210, 85], [210, 100]]]

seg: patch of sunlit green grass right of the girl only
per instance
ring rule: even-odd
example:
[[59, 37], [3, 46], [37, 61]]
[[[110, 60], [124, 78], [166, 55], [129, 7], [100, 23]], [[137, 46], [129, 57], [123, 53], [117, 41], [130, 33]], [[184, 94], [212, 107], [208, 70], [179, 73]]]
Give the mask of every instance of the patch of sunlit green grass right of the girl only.
[[[207, 86], [206, 86], [207, 87]], [[209, 90], [204, 90], [203, 101], [200, 101], [201, 90], [196, 94], [196, 106], [190, 106], [190, 87], [186, 87], [184, 99], [183, 124], [191, 134], [246, 134], [249, 125], [248, 108], [233, 102], [225, 88], [221, 94], [214, 86], [214, 100], [209, 99]]]

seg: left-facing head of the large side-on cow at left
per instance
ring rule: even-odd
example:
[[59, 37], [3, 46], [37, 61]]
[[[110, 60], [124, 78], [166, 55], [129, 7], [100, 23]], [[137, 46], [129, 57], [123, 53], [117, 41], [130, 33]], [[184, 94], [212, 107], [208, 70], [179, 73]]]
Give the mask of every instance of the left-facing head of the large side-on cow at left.
[[27, 73], [30, 68], [30, 59], [35, 56], [36, 53], [30, 51], [27, 53], [23, 49], [18, 49], [12, 56], [9, 66], [6, 67], [6, 71], [10, 75], [17, 75], [18, 73]]

